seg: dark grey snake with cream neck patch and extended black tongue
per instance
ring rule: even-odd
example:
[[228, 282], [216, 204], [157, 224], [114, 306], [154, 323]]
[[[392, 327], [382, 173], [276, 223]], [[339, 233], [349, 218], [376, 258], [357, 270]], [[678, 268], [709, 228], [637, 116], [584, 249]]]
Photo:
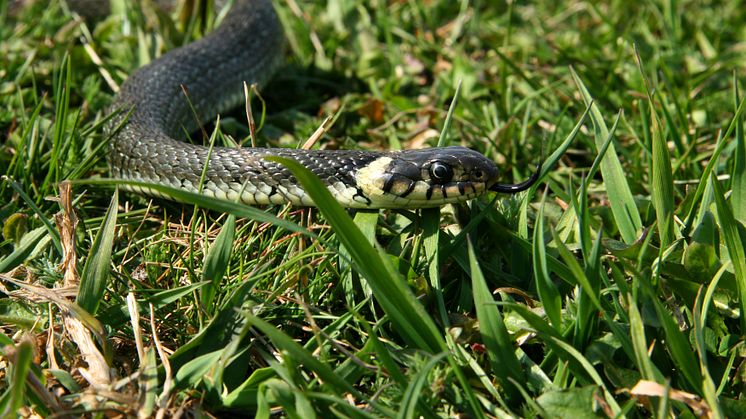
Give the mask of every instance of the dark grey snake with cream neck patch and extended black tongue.
[[[222, 23], [134, 71], [112, 103], [108, 163], [125, 188], [163, 196], [164, 185], [248, 205], [314, 206], [291, 171], [267, 157], [292, 159], [313, 172], [349, 208], [427, 208], [488, 191], [499, 183], [491, 159], [466, 147], [362, 151], [207, 147], [180, 140], [244, 101], [244, 83], [264, 86], [282, 65], [285, 36], [270, 0], [237, 0]], [[186, 94], [185, 94], [186, 93]]]

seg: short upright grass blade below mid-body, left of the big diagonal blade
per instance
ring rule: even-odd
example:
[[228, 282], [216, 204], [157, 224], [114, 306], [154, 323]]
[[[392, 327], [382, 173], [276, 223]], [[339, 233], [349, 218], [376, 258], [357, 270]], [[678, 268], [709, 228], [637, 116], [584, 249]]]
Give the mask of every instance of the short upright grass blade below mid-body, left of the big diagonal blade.
[[207, 251], [205, 257], [205, 267], [202, 271], [202, 279], [210, 281], [209, 285], [202, 288], [201, 302], [202, 306], [208, 311], [211, 310], [212, 300], [215, 298], [220, 282], [228, 270], [231, 260], [231, 250], [233, 249], [233, 237], [236, 233], [236, 216], [228, 215], [225, 224], [220, 229], [220, 233]]

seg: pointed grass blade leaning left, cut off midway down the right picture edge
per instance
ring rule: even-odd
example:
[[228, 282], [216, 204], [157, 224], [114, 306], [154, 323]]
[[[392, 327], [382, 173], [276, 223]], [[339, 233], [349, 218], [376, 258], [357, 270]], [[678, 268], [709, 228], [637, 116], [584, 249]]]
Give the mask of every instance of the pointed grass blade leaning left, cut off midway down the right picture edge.
[[736, 286], [738, 287], [738, 302], [741, 309], [741, 330], [746, 330], [746, 251], [744, 250], [743, 231], [744, 227], [733, 216], [733, 210], [725, 201], [723, 187], [717, 180], [715, 174], [710, 178], [715, 189], [715, 208], [720, 221], [720, 231], [725, 238], [725, 246], [728, 248], [733, 270], [736, 274]]

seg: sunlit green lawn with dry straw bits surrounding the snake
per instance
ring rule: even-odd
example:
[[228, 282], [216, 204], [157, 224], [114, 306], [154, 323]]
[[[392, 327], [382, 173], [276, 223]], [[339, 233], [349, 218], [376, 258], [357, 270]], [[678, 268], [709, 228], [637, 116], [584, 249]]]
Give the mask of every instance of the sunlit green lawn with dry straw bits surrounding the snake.
[[260, 144], [333, 115], [320, 146], [466, 145], [504, 182], [546, 155], [541, 183], [350, 212], [286, 162], [318, 209], [117, 192], [114, 88], [214, 16], [0, 2], [3, 416], [746, 416], [740, 2], [276, 3]]

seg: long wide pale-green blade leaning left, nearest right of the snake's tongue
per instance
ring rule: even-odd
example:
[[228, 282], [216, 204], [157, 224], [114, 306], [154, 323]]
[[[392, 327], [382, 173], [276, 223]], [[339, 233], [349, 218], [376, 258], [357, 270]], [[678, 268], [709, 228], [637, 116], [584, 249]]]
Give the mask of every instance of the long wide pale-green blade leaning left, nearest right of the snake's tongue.
[[[594, 139], [596, 148], [600, 150], [604, 147], [604, 143], [609, 136], [609, 129], [606, 127], [598, 105], [592, 102], [593, 98], [578, 74], [572, 68], [570, 73], [586, 105], [591, 107], [590, 116], [593, 122]], [[601, 175], [604, 178], [611, 211], [614, 214], [622, 239], [625, 243], [634, 243], [637, 239], [637, 232], [642, 229], [642, 219], [637, 211], [632, 191], [627, 184], [627, 178], [613, 144], [608, 146], [606, 155], [601, 161]]]

